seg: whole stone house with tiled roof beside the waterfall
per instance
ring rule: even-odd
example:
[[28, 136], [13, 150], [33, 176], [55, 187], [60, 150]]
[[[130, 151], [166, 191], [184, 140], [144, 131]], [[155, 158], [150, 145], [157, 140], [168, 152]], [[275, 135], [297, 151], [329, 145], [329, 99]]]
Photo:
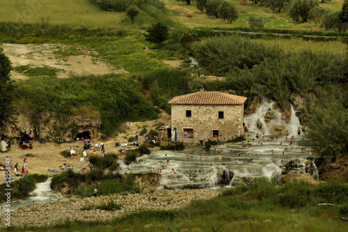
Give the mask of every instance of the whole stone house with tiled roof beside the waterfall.
[[[202, 139], [228, 141], [244, 135], [243, 114], [245, 97], [229, 93], [204, 91], [173, 98], [171, 130], [177, 141], [198, 143]], [[173, 137], [172, 137], [173, 139]]]

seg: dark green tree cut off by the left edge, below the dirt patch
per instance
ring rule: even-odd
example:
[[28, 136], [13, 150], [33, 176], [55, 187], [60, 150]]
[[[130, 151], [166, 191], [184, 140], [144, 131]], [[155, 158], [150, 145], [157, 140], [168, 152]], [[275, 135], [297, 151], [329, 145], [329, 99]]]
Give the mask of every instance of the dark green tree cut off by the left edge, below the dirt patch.
[[11, 107], [15, 95], [13, 80], [10, 79], [11, 62], [0, 47], [0, 128], [10, 121], [15, 113]]

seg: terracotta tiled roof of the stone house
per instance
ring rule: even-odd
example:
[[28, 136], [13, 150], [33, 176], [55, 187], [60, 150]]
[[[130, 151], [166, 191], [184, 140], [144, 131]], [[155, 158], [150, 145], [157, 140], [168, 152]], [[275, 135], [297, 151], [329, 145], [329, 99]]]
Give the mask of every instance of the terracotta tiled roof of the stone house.
[[199, 91], [173, 98], [168, 102], [171, 105], [241, 105], [245, 97], [229, 93]]

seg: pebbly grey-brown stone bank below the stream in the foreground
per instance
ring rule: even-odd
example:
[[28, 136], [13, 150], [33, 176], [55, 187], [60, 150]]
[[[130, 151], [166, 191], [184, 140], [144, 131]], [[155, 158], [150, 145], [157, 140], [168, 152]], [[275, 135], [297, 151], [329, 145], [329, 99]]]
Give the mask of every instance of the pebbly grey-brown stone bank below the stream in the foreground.
[[[113, 194], [110, 196], [87, 197], [84, 199], [73, 197], [63, 201], [42, 203], [29, 207], [22, 207], [14, 212], [11, 218], [12, 226], [47, 226], [63, 223], [66, 220], [107, 221], [122, 217], [141, 209], [168, 210], [186, 206], [194, 199], [211, 199], [219, 194], [216, 190], [155, 190], [140, 194]], [[107, 201], [113, 201], [122, 206], [120, 210], [101, 210]], [[1, 215], [3, 221], [5, 215]], [[4, 224], [1, 224], [4, 226]]]

